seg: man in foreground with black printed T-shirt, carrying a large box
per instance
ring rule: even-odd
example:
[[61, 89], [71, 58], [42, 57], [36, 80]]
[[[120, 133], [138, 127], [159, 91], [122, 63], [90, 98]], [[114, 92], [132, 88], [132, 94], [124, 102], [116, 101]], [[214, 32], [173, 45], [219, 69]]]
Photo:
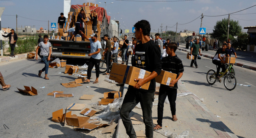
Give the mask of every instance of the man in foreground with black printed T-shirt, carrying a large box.
[[[146, 20], [141, 20], [135, 25], [135, 37], [141, 40], [141, 43], [135, 47], [135, 67], [152, 72], [148, 77], [135, 79], [137, 84], [128, 87], [124, 97], [122, 107], [120, 109], [120, 117], [122, 118], [126, 133], [130, 138], [135, 138], [136, 133], [133, 129], [129, 113], [138, 104], [141, 104], [143, 112], [143, 122], [146, 127], [146, 137], [153, 138], [153, 120], [152, 105], [154, 101], [156, 80], [155, 77], [161, 73], [161, 51], [154, 41], [150, 40], [150, 24]], [[149, 89], [140, 89], [142, 85], [150, 81]]]

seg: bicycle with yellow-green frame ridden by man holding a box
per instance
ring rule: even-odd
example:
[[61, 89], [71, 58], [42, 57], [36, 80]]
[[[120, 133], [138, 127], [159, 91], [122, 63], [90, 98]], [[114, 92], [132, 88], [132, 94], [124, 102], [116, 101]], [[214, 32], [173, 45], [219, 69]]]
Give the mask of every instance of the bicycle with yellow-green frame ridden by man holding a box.
[[[235, 87], [236, 87], [236, 78], [235, 78], [235, 75], [234, 75], [235, 72], [234, 72], [234, 68], [232, 67], [232, 65], [231, 66], [226, 65], [226, 66], [229, 66], [229, 68], [226, 68], [225, 72], [219, 72], [219, 74], [220, 74], [220, 78], [224, 76], [224, 86], [225, 86], [225, 88], [227, 90], [231, 91], [231, 90], [234, 90]], [[216, 67], [217, 67], [217, 65], [216, 65]], [[230, 73], [228, 73], [228, 71]], [[216, 78], [215, 76], [216, 76], [216, 72], [213, 69], [210, 69], [207, 72], [206, 79], [207, 79], [207, 82], [210, 85], [213, 85], [216, 81], [221, 83], [221, 79]]]

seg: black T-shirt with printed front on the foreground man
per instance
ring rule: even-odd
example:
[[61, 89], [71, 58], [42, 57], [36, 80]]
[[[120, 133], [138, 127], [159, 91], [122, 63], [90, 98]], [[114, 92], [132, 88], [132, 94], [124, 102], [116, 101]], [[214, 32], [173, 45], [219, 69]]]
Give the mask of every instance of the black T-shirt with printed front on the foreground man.
[[[139, 43], [135, 47], [134, 63], [137, 68], [144, 69], [146, 71], [155, 71], [158, 75], [161, 73], [161, 52], [159, 46], [155, 44], [153, 40], [142, 44]], [[133, 86], [129, 86], [129, 89], [135, 89]], [[140, 89], [140, 91], [154, 93], [156, 90], [156, 80], [152, 79], [148, 90]]]

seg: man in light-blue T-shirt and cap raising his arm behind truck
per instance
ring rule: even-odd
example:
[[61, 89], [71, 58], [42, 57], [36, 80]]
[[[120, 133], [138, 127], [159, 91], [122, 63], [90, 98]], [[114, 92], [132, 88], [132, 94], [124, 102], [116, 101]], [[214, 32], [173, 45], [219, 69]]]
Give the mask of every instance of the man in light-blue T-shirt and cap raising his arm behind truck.
[[101, 59], [100, 50], [101, 50], [101, 44], [100, 41], [97, 40], [97, 34], [93, 33], [91, 38], [87, 37], [82, 31], [79, 31], [85, 39], [90, 41], [91, 44], [91, 52], [88, 54], [90, 56], [88, 69], [87, 69], [87, 80], [84, 81], [84, 83], [89, 83], [91, 78], [91, 70], [93, 66], [95, 65], [96, 70], [96, 80], [93, 82], [93, 84], [98, 83], [99, 79], [99, 63]]

